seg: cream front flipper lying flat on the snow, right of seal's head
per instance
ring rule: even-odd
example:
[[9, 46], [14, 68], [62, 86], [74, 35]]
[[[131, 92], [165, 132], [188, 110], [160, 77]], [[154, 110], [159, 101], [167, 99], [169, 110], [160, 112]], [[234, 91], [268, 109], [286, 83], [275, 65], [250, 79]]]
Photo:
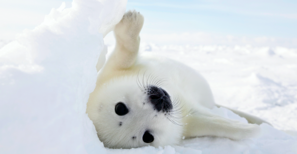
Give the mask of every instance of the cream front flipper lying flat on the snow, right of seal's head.
[[257, 137], [261, 129], [256, 124], [230, 120], [203, 109], [185, 117], [185, 137], [227, 137], [234, 140]]

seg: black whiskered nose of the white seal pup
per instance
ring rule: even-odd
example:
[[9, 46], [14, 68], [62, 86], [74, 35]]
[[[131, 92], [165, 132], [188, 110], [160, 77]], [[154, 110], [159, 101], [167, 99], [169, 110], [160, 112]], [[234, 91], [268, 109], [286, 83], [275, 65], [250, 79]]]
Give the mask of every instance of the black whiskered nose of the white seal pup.
[[154, 105], [154, 109], [157, 111], [170, 111], [172, 109], [172, 103], [168, 93], [157, 86], [150, 86], [148, 88], [149, 101]]

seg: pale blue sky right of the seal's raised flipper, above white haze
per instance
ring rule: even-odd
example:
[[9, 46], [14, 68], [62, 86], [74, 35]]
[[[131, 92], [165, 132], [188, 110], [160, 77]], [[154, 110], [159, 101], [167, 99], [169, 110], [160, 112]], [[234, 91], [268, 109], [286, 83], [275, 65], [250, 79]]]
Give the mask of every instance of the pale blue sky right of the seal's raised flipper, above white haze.
[[148, 32], [297, 36], [296, 0], [146, 1], [129, 0], [127, 9], [136, 9], [145, 15], [149, 20]]

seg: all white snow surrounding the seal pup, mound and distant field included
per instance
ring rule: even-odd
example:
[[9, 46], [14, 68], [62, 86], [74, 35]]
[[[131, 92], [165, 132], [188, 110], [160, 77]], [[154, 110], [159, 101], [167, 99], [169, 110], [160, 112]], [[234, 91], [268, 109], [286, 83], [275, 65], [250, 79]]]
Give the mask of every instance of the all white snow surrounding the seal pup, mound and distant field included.
[[[198, 70], [216, 103], [263, 118], [262, 135], [241, 141], [181, 138], [181, 144], [108, 149], [85, 114], [100, 52], [127, 0], [74, 0], [52, 9], [42, 24], [14, 41], [0, 41], [2, 154], [297, 154], [297, 49], [142, 42]], [[99, 32], [98, 32], [99, 31]], [[100, 63], [104, 61], [101, 59]], [[224, 108], [213, 112], [247, 122]], [[285, 133], [286, 132], [286, 133]], [[291, 135], [289, 135], [291, 134]], [[294, 136], [295, 135], [295, 136]]]

